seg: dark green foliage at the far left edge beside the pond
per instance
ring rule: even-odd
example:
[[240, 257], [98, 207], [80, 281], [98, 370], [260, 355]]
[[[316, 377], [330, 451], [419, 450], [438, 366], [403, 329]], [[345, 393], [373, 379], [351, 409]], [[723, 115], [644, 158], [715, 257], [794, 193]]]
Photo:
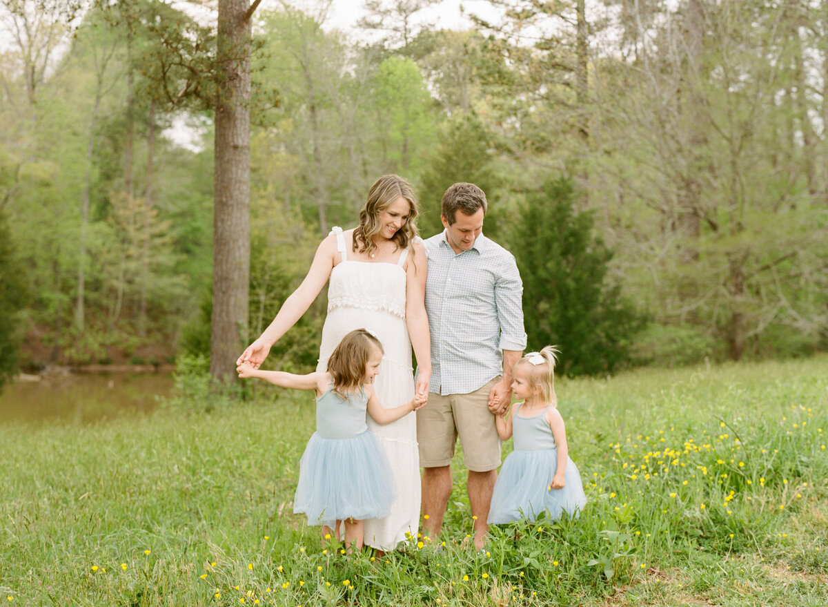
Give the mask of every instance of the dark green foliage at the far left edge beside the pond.
[[17, 327], [16, 313], [26, 304], [23, 276], [6, 214], [0, 210], [0, 392], [17, 370], [22, 333]]

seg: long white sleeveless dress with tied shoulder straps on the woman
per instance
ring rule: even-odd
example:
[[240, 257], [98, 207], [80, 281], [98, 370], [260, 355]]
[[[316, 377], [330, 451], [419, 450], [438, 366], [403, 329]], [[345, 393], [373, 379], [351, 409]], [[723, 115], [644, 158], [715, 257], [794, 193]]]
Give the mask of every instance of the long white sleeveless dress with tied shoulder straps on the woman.
[[[396, 264], [348, 260], [342, 228], [337, 238], [342, 260], [330, 273], [328, 315], [322, 328], [317, 371], [327, 371], [330, 353], [346, 333], [366, 328], [377, 335], [385, 354], [374, 379], [374, 391], [385, 408], [414, 397], [412, 344], [406, 325], [406, 272], [403, 250]], [[377, 437], [391, 465], [394, 494], [391, 515], [364, 522], [365, 543], [393, 550], [407, 533], [416, 537], [420, 520], [420, 456], [416, 442], [416, 416], [409, 413], [388, 425], [378, 425], [368, 415], [368, 430]]]

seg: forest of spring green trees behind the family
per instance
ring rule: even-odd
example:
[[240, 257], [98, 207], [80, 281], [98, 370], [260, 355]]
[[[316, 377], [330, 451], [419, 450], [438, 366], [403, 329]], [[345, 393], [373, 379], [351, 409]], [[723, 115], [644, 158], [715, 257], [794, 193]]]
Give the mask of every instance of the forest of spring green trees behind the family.
[[[252, 13], [238, 343], [395, 172], [426, 237], [445, 187], [484, 188], [530, 347], [567, 374], [828, 349], [828, 5], [492, 4], [465, 31], [418, 20], [427, 0], [369, 0], [348, 34], [330, 5]], [[0, 1], [0, 375], [209, 353], [225, 159], [202, 8]], [[324, 302], [269, 364], [315, 364]]]

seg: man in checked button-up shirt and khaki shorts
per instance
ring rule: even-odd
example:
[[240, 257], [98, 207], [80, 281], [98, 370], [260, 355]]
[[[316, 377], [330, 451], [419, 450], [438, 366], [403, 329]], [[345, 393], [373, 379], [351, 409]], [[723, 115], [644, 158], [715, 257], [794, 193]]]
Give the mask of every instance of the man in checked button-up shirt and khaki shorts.
[[526, 347], [520, 274], [513, 255], [483, 235], [485, 214], [483, 190], [455, 183], [443, 195], [445, 231], [425, 242], [431, 386], [416, 416], [423, 536], [440, 533], [459, 436], [478, 548], [500, 465], [494, 416], [508, 410], [512, 367]]

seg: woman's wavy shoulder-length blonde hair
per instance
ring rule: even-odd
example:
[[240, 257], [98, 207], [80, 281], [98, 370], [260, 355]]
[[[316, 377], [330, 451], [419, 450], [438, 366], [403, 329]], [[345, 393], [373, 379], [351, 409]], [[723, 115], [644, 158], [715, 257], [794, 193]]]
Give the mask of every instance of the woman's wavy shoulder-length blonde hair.
[[417, 236], [416, 216], [417, 209], [414, 188], [398, 175], [383, 175], [368, 190], [368, 200], [359, 211], [359, 226], [354, 230], [353, 250], [371, 255], [377, 250], [373, 237], [379, 234], [382, 226], [379, 225], [379, 214], [385, 211], [397, 198], [405, 198], [408, 202], [408, 219], [392, 236], [399, 249], [406, 249], [409, 243]]

